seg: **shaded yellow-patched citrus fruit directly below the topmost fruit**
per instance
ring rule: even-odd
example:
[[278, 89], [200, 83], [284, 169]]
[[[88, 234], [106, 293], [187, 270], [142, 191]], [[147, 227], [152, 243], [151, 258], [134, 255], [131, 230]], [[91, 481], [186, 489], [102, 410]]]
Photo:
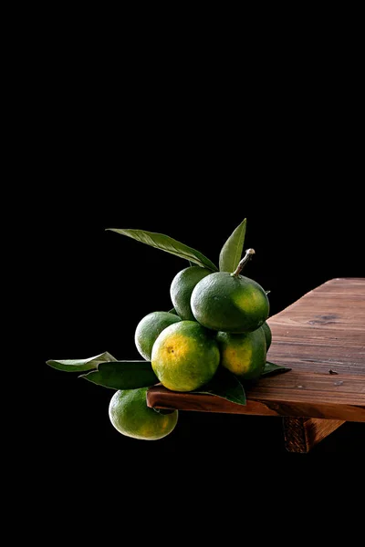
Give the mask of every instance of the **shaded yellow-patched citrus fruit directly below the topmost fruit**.
[[243, 380], [255, 380], [266, 365], [266, 338], [259, 327], [251, 333], [216, 335], [221, 352], [221, 365]]

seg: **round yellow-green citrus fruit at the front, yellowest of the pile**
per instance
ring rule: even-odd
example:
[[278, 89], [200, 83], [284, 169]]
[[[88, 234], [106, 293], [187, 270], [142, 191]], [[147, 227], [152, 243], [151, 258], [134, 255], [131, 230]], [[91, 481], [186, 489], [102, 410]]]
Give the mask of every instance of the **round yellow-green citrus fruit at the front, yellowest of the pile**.
[[196, 321], [165, 328], [152, 348], [152, 369], [162, 386], [192, 391], [214, 377], [220, 360], [214, 335]]

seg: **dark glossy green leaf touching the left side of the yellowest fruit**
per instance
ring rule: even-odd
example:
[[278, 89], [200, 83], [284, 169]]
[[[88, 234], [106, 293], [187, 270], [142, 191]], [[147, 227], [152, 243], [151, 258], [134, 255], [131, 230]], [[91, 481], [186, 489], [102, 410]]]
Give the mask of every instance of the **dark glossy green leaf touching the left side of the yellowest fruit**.
[[98, 370], [83, 374], [89, 382], [110, 389], [137, 389], [159, 383], [150, 361], [111, 361], [100, 363]]

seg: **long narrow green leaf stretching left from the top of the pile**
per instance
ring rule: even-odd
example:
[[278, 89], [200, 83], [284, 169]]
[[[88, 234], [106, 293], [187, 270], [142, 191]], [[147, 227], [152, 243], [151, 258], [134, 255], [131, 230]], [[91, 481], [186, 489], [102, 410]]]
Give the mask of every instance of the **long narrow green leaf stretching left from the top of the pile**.
[[138, 242], [145, 243], [146, 245], [150, 245], [151, 247], [155, 247], [156, 249], [160, 249], [166, 253], [180, 256], [180, 258], [184, 258], [194, 264], [198, 264], [198, 266], [202, 266], [202, 268], [208, 268], [208, 270], [212, 270], [213, 272], [218, 271], [218, 268], [214, 265], [214, 263], [211, 262], [209, 258], [206, 258], [206, 256], [202, 253], [195, 251], [195, 249], [188, 247], [184, 243], [180, 243], [172, 239], [172, 237], [169, 237], [168, 235], [163, 235], [163, 233], [117, 228], [108, 228], [108, 230], [110, 232], [117, 232], [122, 235], [127, 235]]

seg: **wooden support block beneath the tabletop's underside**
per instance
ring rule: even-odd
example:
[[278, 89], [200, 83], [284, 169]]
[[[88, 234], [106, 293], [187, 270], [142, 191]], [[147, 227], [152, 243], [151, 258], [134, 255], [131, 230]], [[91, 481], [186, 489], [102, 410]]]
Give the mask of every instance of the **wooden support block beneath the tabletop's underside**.
[[289, 452], [309, 452], [344, 423], [339, 419], [283, 418], [286, 448]]

